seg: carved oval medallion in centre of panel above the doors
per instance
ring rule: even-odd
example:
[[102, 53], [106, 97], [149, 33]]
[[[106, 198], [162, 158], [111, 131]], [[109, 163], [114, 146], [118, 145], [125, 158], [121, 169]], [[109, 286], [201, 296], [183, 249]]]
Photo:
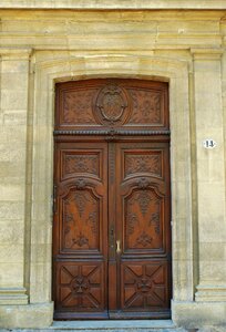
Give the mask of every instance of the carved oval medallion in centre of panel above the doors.
[[101, 124], [123, 124], [130, 113], [127, 93], [121, 86], [109, 84], [102, 87], [94, 103], [94, 116]]

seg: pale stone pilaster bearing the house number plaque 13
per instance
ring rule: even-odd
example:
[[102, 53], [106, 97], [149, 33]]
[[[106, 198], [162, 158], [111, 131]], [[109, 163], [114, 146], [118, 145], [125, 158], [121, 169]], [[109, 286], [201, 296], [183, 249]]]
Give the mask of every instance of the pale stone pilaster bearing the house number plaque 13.
[[[196, 49], [194, 56], [197, 160], [198, 284], [197, 302], [226, 300], [226, 216], [222, 51]], [[216, 142], [205, 148], [206, 139]]]

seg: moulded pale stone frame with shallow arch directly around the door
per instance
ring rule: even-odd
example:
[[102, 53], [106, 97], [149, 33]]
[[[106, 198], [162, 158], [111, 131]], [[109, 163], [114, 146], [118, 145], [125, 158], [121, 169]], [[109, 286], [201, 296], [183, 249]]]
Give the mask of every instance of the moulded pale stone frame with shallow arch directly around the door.
[[[37, 53], [39, 54], [39, 52]], [[52, 188], [54, 85], [92, 77], [130, 77], [170, 84], [173, 318], [174, 303], [194, 300], [189, 77], [186, 61], [165, 56], [83, 55], [62, 52], [60, 59], [37, 56], [30, 107], [32, 149], [30, 303], [52, 301]], [[59, 56], [59, 55], [58, 55]], [[41, 60], [42, 59], [42, 60]], [[29, 148], [29, 147], [28, 147]], [[49, 317], [53, 313], [49, 307]]]

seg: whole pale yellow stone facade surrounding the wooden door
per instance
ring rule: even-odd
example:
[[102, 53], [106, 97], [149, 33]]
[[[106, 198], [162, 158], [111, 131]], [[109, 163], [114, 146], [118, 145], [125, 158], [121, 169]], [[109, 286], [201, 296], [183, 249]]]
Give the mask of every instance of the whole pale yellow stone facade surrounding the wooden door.
[[172, 320], [226, 324], [226, 4], [106, 2], [0, 4], [0, 328], [52, 324], [54, 84], [91, 77], [170, 83]]

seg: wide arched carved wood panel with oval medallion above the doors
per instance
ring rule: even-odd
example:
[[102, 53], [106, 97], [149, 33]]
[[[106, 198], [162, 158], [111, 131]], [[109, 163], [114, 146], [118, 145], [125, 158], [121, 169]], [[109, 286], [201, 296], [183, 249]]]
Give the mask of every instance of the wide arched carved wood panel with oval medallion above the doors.
[[167, 129], [167, 83], [86, 80], [56, 84], [56, 129]]

